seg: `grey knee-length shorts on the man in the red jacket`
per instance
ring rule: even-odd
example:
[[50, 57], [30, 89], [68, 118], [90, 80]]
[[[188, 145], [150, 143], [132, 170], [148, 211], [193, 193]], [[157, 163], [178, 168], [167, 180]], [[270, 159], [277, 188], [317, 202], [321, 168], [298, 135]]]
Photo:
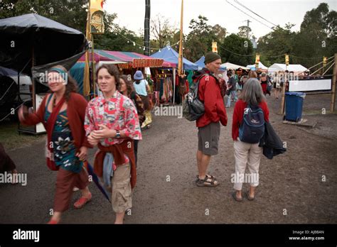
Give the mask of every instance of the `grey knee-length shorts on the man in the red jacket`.
[[198, 150], [205, 155], [217, 155], [220, 136], [220, 123], [210, 123], [199, 128]]

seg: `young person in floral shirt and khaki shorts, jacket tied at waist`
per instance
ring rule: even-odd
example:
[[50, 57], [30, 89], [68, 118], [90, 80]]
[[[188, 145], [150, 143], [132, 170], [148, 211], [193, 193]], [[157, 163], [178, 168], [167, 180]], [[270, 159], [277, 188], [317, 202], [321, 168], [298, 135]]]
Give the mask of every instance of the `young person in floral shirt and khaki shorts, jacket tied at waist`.
[[87, 105], [85, 131], [89, 143], [99, 148], [94, 172], [112, 188], [114, 223], [122, 224], [125, 211], [132, 207], [132, 189], [137, 175], [133, 140], [141, 140], [141, 128], [132, 100], [117, 91], [117, 67], [99, 67], [97, 83], [103, 96], [92, 99]]

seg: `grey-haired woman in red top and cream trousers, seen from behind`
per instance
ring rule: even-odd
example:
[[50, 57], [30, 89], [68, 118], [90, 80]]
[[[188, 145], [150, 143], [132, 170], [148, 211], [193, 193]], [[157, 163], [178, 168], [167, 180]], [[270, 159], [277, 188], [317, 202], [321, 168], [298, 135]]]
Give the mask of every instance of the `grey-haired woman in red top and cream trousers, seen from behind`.
[[[235, 182], [232, 193], [233, 198], [237, 202], [242, 202], [242, 177], [249, 177], [250, 190], [247, 191], [247, 199], [255, 199], [255, 187], [259, 185], [259, 167], [262, 148], [257, 143], [247, 143], [240, 141], [239, 128], [243, 124], [244, 114], [250, 109], [260, 107], [264, 115], [264, 121], [269, 121], [269, 109], [266, 99], [262, 92], [260, 82], [256, 78], [247, 79], [242, 88], [239, 100], [235, 104], [232, 117], [232, 139], [234, 141], [235, 156]], [[245, 175], [245, 168], [248, 166], [250, 175]], [[252, 178], [252, 179], [251, 179]]]

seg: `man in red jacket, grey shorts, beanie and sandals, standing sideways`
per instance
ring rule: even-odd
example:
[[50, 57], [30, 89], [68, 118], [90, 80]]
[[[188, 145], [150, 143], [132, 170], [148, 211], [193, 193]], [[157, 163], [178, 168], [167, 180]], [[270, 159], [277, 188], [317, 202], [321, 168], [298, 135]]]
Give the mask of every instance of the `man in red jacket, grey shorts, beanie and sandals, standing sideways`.
[[198, 97], [205, 104], [205, 114], [196, 121], [198, 127], [198, 186], [217, 186], [218, 180], [206, 174], [210, 156], [218, 154], [220, 123], [227, 125], [227, 114], [220, 91], [220, 82], [215, 77], [221, 65], [221, 57], [217, 53], [205, 54], [205, 68], [193, 76], [199, 80]]

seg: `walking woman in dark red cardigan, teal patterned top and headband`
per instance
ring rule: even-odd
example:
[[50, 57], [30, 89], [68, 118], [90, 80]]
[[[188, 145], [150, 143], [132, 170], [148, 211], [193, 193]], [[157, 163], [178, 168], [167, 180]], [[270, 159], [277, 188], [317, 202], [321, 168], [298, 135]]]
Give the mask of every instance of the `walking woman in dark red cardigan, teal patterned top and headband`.
[[61, 214], [69, 208], [74, 187], [82, 192], [74, 204], [76, 209], [92, 198], [87, 171], [83, 168], [87, 148], [92, 146], [84, 129], [87, 101], [76, 93], [76, 82], [65, 67], [58, 65], [48, 70], [48, 87], [50, 93], [43, 98], [38, 111], [29, 114], [22, 106], [18, 118], [22, 124], [42, 123], [46, 128], [47, 165], [50, 170], [58, 170], [53, 216], [48, 224], [58, 224]]

